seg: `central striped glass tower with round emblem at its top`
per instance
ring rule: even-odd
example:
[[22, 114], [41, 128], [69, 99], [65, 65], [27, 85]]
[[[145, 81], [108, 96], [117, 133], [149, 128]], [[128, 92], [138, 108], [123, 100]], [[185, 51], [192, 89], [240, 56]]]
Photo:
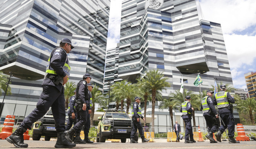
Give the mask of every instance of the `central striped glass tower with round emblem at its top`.
[[[159, 69], [171, 84], [162, 91], [164, 98], [180, 90], [181, 75], [184, 88], [198, 94], [199, 86], [193, 84], [198, 74], [203, 80], [202, 91], [212, 88], [214, 80], [233, 86], [221, 26], [202, 19], [199, 0], [123, 0], [118, 49], [112, 49], [118, 64], [111, 63], [115, 67], [107, 74], [112, 83], [116, 77], [135, 82], [147, 70]], [[105, 70], [109, 70], [107, 67]], [[147, 114], [151, 114], [148, 104]], [[167, 122], [162, 124], [161, 120], [168, 115], [162, 115], [159, 104], [156, 102], [155, 114], [159, 118], [155, 125], [162, 127]], [[181, 121], [180, 115], [175, 117]], [[199, 119], [203, 122], [203, 115]], [[239, 121], [238, 114], [235, 120]]]

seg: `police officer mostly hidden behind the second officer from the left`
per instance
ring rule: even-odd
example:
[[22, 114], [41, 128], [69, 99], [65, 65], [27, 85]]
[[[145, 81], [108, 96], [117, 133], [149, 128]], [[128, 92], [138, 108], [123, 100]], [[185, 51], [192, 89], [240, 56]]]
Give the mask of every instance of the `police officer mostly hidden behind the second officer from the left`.
[[90, 130], [90, 127], [91, 127], [91, 121], [90, 121], [90, 114], [92, 113], [92, 110], [91, 110], [91, 107], [92, 107], [92, 88], [94, 87], [91, 83], [88, 83], [87, 84], [87, 87], [88, 87], [88, 93], [90, 95], [90, 103], [88, 105], [88, 103], [86, 103], [86, 111], [88, 111], [88, 114], [87, 114], [87, 121], [84, 125], [84, 142], [86, 143], [93, 143], [93, 141], [91, 141], [89, 139], [89, 130]]

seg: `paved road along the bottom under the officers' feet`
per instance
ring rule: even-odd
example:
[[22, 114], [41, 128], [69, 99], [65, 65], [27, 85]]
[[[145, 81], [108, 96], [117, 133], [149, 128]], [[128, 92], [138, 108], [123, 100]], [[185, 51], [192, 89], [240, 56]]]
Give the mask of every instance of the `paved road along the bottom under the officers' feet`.
[[[127, 139], [128, 141], [128, 139]], [[239, 144], [229, 144], [228, 141], [221, 143], [197, 142], [197, 143], [169, 143], [166, 139], [156, 139], [155, 143], [93, 143], [93, 144], [76, 144], [73, 149], [256, 149], [256, 141], [242, 141]], [[54, 148], [56, 141], [24, 141], [28, 143], [28, 148], [33, 149], [50, 149]], [[15, 148], [13, 144], [6, 140], [0, 140], [0, 149]]]

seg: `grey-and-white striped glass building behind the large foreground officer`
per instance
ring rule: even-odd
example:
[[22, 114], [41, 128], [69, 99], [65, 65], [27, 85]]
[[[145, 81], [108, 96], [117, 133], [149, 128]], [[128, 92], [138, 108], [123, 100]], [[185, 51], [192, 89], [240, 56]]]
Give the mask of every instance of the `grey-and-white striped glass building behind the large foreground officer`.
[[0, 8], [0, 70], [13, 73], [0, 116], [22, 121], [34, 109], [50, 52], [62, 38], [75, 46], [69, 82], [88, 73], [103, 90], [110, 0], [3, 0]]

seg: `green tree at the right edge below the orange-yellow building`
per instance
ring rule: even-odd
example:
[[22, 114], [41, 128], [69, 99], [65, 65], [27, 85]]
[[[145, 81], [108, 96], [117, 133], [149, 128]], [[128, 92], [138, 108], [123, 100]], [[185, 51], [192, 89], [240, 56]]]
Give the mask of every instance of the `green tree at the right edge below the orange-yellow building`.
[[256, 111], [256, 101], [254, 98], [247, 98], [246, 100], [241, 100], [237, 107], [239, 111], [249, 112], [251, 123], [254, 124], [253, 112]]

